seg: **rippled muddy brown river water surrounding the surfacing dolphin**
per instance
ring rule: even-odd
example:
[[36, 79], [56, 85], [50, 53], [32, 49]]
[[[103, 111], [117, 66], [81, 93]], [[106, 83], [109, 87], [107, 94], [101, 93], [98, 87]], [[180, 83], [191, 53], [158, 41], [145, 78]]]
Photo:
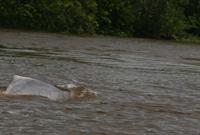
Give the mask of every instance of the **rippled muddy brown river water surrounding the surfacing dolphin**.
[[18, 74], [77, 83], [95, 100], [0, 96], [1, 135], [199, 135], [200, 46], [0, 32], [0, 89]]

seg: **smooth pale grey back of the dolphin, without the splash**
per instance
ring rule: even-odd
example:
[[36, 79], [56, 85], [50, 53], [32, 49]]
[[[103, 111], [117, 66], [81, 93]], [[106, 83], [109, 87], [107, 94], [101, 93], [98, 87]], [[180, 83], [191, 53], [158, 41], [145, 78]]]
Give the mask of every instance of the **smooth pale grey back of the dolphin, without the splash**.
[[47, 97], [51, 100], [66, 98], [66, 92], [37, 79], [14, 75], [5, 94], [9, 95], [35, 95]]

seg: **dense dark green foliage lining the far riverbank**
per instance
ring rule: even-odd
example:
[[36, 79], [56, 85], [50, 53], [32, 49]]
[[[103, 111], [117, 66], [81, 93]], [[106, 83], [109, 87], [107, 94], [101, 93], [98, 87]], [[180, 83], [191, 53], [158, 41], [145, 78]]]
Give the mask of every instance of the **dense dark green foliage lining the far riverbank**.
[[200, 36], [200, 1], [0, 0], [0, 27], [167, 39]]

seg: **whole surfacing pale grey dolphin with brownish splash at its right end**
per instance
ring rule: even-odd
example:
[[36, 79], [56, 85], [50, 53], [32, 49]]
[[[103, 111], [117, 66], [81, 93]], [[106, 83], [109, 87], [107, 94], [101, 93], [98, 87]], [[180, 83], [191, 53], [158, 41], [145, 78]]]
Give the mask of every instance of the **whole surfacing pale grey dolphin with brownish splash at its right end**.
[[96, 97], [96, 92], [74, 84], [54, 86], [37, 79], [14, 75], [5, 95], [33, 95], [51, 100]]

